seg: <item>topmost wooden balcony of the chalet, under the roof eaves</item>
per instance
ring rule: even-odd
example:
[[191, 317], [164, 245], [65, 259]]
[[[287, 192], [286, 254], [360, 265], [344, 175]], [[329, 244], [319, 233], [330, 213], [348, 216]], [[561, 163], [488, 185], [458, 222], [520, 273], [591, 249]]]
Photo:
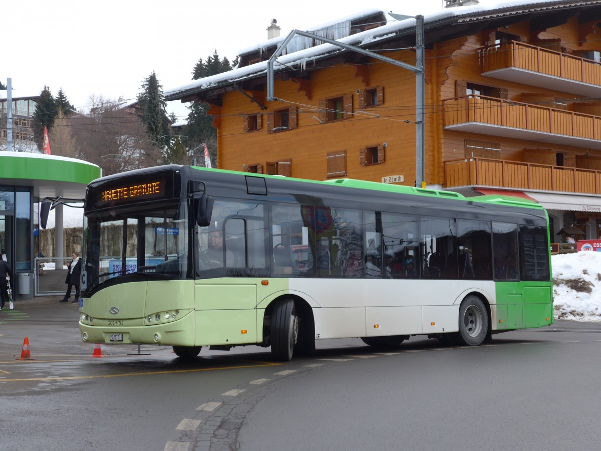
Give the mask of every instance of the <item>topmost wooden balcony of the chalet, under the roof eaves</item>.
[[482, 75], [555, 91], [601, 95], [601, 63], [510, 41], [478, 49]]

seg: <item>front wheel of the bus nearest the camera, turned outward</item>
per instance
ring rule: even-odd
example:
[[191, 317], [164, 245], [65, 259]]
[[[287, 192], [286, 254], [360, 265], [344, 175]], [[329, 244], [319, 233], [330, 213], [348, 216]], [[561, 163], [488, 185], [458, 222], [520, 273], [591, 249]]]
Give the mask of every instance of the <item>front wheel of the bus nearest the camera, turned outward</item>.
[[279, 299], [273, 307], [271, 354], [276, 360], [289, 361], [298, 340], [299, 321], [292, 299]]

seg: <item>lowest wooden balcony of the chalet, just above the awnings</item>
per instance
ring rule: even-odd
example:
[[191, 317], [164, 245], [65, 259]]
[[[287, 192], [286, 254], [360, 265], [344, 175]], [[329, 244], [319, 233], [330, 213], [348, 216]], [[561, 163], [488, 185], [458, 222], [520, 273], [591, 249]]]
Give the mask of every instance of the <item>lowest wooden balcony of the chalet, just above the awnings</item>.
[[459, 186], [601, 194], [601, 171], [477, 157], [445, 162], [444, 188]]

